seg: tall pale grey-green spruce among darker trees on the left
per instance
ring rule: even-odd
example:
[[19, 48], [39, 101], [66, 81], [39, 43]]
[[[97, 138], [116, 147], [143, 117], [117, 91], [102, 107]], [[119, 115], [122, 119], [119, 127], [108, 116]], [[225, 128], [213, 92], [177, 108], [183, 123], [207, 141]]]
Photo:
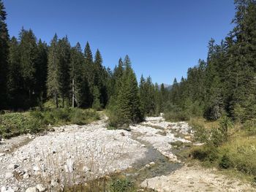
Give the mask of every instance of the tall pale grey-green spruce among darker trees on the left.
[[54, 99], [56, 107], [59, 107], [59, 58], [58, 58], [58, 37], [54, 35], [50, 42], [48, 52], [48, 76], [47, 88], [48, 96]]

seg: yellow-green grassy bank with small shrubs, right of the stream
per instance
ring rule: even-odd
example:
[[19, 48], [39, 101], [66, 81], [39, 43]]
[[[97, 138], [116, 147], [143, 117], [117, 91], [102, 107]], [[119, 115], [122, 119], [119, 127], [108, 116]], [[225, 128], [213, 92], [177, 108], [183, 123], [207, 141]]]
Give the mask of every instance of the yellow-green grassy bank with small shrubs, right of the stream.
[[195, 139], [205, 143], [189, 149], [192, 158], [203, 166], [215, 166], [222, 172], [256, 184], [254, 122], [241, 125], [230, 124], [227, 119], [217, 122], [192, 119], [189, 124], [195, 129]]

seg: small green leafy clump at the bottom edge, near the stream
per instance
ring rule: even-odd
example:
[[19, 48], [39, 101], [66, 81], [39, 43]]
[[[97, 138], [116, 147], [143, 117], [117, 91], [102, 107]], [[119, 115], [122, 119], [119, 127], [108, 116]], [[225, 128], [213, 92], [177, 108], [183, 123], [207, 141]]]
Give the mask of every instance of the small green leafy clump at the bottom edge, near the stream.
[[114, 180], [112, 183], [110, 183], [110, 191], [111, 192], [132, 192], [132, 191], [135, 191], [135, 184], [126, 178]]

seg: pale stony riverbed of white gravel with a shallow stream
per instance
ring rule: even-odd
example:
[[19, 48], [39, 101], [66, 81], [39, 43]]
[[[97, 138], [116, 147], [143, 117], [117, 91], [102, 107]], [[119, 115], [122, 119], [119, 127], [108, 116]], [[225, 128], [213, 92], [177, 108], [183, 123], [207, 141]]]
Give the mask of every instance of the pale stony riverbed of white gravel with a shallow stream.
[[[187, 123], [170, 123], [156, 117], [130, 128], [131, 131], [108, 130], [103, 118], [86, 126], [61, 126], [41, 135], [1, 141], [1, 192], [59, 191], [64, 185], [79, 185], [132, 168], [143, 187], [157, 191], [198, 191], [198, 175], [208, 185], [215, 180], [204, 169], [181, 168], [181, 159], [173, 153], [173, 143], [191, 144], [193, 131]], [[139, 172], [144, 174], [140, 176]], [[217, 191], [228, 191], [229, 185], [224, 182], [228, 180], [218, 180], [212, 186]], [[236, 191], [238, 184], [230, 188]], [[239, 185], [237, 189], [253, 188]]]

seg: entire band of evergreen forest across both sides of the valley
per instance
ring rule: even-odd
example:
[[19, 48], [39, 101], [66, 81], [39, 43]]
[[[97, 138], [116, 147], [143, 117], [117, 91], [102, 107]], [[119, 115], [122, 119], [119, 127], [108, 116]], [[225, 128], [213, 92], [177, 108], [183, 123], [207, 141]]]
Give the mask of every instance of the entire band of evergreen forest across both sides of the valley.
[[106, 68], [89, 42], [83, 51], [79, 42], [72, 47], [67, 37], [55, 34], [48, 45], [24, 28], [18, 38], [10, 38], [0, 0], [0, 110], [27, 110], [52, 100], [56, 107], [108, 108], [113, 126], [160, 112], [172, 112], [179, 120], [255, 118], [256, 3], [235, 4], [233, 30], [219, 45], [211, 39], [206, 61], [165, 88], [151, 77], [141, 76], [138, 83], [128, 55], [113, 70]]

